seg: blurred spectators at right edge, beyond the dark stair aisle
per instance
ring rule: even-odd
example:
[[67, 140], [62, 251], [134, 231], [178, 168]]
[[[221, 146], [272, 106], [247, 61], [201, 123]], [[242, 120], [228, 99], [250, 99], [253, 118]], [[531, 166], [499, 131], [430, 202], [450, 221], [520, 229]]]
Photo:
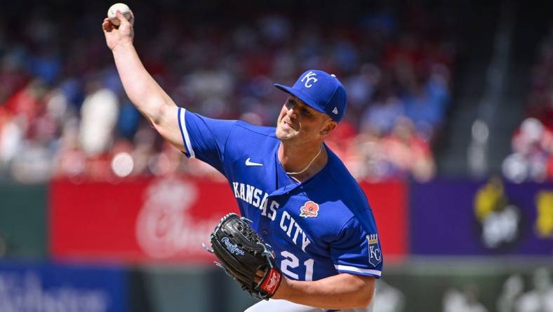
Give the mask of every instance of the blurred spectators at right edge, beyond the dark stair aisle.
[[515, 182], [553, 180], [553, 28], [538, 48], [530, 81], [526, 117], [502, 164], [503, 174]]

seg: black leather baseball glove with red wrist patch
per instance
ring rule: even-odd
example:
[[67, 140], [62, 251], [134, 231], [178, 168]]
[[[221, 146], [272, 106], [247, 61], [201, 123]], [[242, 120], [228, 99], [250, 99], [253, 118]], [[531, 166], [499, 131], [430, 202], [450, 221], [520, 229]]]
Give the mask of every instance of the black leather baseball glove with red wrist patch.
[[[281, 271], [276, 267], [269, 245], [255, 233], [248, 219], [237, 214], [223, 216], [211, 233], [211, 247], [221, 263], [217, 266], [253, 297], [268, 300], [279, 288]], [[205, 247], [205, 245], [204, 245]]]

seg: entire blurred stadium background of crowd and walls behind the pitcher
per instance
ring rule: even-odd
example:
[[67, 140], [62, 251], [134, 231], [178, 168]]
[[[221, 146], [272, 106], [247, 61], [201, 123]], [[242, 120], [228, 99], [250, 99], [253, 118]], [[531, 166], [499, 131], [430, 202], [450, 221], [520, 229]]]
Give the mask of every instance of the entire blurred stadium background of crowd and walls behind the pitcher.
[[[106, 1], [0, 4], [0, 311], [242, 311], [200, 247], [234, 208], [128, 103]], [[274, 124], [308, 67], [345, 83], [329, 139], [366, 190], [375, 311], [553, 311], [552, 4], [128, 1], [176, 103]]]

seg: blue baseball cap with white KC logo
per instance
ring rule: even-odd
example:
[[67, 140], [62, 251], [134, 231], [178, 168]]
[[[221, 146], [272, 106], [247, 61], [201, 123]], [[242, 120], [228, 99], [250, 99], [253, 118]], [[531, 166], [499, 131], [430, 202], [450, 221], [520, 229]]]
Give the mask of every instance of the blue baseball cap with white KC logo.
[[347, 106], [344, 86], [333, 74], [322, 70], [307, 70], [293, 86], [274, 84], [319, 112], [324, 112], [335, 122], [340, 122]]

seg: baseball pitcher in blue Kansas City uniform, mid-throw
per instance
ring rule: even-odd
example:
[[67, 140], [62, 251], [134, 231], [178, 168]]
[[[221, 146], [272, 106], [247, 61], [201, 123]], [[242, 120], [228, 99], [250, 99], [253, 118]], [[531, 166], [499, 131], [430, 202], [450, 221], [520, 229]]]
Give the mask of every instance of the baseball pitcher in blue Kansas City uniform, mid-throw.
[[293, 86], [276, 84], [288, 93], [276, 127], [211, 119], [175, 105], [138, 58], [131, 23], [116, 17], [118, 27], [106, 18], [102, 28], [128, 98], [168, 142], [229, 181], [242, 217], [225, 216], [211, 247], [244, 290], [266, 299], [246, 311], [371, 311], [382, 271], [373, 212], [324, 144], [346, 110], [338, 78], [307, 70]]

